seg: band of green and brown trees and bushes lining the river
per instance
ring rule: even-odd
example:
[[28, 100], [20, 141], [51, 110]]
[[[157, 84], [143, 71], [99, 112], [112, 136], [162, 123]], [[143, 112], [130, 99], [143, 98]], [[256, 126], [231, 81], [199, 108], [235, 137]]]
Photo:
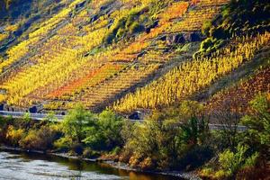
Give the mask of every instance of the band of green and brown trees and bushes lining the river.
[[[265, 116], [260, 114], [270, 117], [266, 97], [258, 95], [251, 102], [257, 108], [254, 115], [236, 120], [249, 127], [240, 132], [229, 131], [230, 126], [228, 130], [211, 131], [207, 119], [200, 115], [205, 107], [198, 102], [185, 101], [174, 109], [153, 112], [144, 123], [125, 121], [108, 110], [94, 114], [78, 104], [61, 122], [49, 121], [51, 118], [32, 121], [27, 114], [22, 120], [2, 118], [0, 139], [17, 150], [39, 149], [38, 153], [79, 159], [85, 166], [91, 164], [85, 161], [92, 161], [94, 166], [114, 166], [115, 171], [124, 169], [130, 174], [173, 175], [176, 179], [264, 179], [269, 176], [268, 143], [262, 139], [269, 133]], [[220, 118], [226, 121], [226, 117]], [[184, 123], [175, 127], [181, 121]], [[248, 125], [254, 122], [257, 126]], [[55, 158], [51, 157], [52, 161]], [[231, 170], [230, 166], [236, 168]]]

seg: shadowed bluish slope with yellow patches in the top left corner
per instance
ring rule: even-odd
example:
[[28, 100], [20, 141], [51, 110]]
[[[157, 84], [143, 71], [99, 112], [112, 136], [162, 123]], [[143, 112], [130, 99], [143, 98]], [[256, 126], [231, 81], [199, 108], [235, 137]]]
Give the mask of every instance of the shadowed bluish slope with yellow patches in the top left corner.
[[0, 1], [0, 54], [38, 28], [39, 23], [53, 17], [71, 1]]

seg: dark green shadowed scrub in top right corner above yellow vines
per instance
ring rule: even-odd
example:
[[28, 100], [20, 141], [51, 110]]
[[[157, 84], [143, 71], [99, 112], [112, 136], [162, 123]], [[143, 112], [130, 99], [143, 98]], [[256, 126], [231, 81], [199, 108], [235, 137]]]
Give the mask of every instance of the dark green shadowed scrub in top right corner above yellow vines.
[[202, 56], [220, 49], [225, 40], [235, 36], [254, 35], [258, 32], [269, 31], [267, 24], [270, 5], [265, 0], [233, 0], [226, 5], [221, 14], [211, 22], [202, 25], [202, 34], [207, 36], [202, 41], [200, 51], [193, 57]]

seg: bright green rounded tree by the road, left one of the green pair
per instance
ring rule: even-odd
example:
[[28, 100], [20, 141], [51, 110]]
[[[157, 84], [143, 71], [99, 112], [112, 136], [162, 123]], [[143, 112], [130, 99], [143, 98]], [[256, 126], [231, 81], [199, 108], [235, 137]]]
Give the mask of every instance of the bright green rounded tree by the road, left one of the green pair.
[[94, 121], [94, 114], [85, 110], [84, 105], [78, 103], [74, 109], [67, 112], [62, 126], [65, 134], [80, 144], [85, 139], [87, 129], [94, 126]]

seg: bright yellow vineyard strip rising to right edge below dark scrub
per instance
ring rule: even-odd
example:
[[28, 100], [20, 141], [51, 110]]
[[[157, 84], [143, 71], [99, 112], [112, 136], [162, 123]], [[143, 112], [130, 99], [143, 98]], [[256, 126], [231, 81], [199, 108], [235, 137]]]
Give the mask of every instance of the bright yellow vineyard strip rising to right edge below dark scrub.
[[269, 46], [270, 33], [257, 37], [233, 40], [228, 47], [220, 49], [210, 58], [194, 59], [175, 67], [163, 78], [128, 94], [113, 109], [119, 112], [131, 112], [136, 109], [156, 108], [170, 105], [202, 90], [202, 88], [251, 60], [256, 51]]

